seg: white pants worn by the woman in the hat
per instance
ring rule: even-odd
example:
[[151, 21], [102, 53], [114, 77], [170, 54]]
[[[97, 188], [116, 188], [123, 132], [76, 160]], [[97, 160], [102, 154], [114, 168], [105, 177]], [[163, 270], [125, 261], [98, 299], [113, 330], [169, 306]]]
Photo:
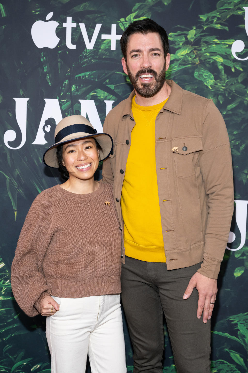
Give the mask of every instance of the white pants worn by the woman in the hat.
[[53, 297], [60, 304], [46, 318], [51, 373], [126, 373], [120, 295]]

